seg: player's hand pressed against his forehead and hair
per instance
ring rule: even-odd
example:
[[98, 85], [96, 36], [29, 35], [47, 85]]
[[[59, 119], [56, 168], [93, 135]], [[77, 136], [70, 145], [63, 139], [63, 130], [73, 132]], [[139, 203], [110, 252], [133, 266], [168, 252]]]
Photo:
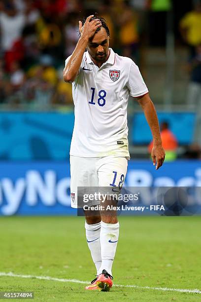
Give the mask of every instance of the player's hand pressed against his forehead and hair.
[[99, 19], [93, 19], [90, 22], [91, 18], [93, 17], [94, 15], [87, 17], [84, 25], [82, 25], [82, 22], [79, 21], [79, 32], [81, 34], [81, 37], [86, 36], [89, 39], [92, 38], [96, 30], [102, 25]]

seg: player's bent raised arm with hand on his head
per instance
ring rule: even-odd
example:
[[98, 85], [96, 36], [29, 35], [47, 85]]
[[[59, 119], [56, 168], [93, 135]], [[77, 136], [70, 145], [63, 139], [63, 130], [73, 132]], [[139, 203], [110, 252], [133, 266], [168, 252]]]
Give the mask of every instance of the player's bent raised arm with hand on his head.
[[94, 36], [97, 28], [101, 26], [99, 19], [93, 19], [90, 22], [93, 16], [94, 15], [89, 16], [83, 26], [82, 22], [79, 21], [79, 31], [81, 36], [64, 69], [63, 76], [66, 82], [72, 83], [79, 74], [79, 68], [82, 63], [83, 54], [87, 48], [87, 43], [89, 42], [89, 39]]

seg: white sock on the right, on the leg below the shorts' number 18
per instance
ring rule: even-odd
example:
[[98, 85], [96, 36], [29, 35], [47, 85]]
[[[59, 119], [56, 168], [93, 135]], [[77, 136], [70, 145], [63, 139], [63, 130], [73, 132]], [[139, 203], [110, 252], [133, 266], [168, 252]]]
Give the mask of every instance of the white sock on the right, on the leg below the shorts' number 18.
[[100, 229], [100, 246], [101, 246], [101, 259], [102, 264], [100, 266], [99, 273], [103, 269], [112, 275], [112, 264], [116, 252], [117, 241], [119, 238], [119, 223], [117, 224], [105, 224], [101, 221]]

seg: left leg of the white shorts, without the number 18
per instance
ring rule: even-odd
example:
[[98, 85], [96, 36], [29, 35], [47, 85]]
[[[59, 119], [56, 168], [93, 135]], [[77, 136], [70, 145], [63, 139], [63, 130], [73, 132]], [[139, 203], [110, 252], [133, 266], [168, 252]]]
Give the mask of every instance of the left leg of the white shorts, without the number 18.
[[88, 188], [98, 186], [99, 181], [96, 171], [96, 158], [70, 156], [71, 207], [79, 207], [77, 204], [77, 188], [82, 188], [80, 189], [80, 193], [84, 194], [85, 190], [88, 192]]

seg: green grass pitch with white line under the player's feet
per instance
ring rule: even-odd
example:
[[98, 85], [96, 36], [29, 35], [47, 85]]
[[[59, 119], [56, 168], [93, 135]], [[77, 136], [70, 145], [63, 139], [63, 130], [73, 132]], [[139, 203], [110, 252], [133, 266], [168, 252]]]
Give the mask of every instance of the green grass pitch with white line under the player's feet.
[[[201, 217], [120, 216], [119, 222], [114, 284], [138, 288], [88, 292], [80, 283], [0, 276], [0, 291], [32, 291], [33, 301], [201, 301], [199, 293], [144, 288], [201, 290]], [[10, 271], [91, 281], [84, 218], [1, 217], [0, 272]]]

